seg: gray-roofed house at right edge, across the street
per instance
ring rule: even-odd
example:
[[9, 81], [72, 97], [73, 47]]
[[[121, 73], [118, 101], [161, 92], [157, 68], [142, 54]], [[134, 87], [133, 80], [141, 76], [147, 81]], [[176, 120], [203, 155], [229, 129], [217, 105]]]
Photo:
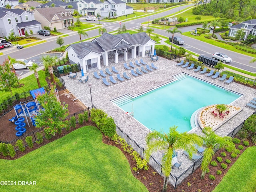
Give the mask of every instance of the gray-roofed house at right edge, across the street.
[[240, 29], [244, 31], [244, 40], [246, 40], [248, 35], [256, 36], [256, 19], [247, 20], [240, 24], [230, 26], [228, 36], [235, 37]]

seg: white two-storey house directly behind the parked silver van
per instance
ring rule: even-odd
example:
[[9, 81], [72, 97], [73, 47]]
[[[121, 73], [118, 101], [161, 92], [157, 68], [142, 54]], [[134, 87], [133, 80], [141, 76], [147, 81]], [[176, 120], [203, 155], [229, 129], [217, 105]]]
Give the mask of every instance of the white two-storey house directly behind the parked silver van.
[[80, 0], [77, 2], [78, 12], [85, 15], [97, 15], [100, 14], [100, 9], [103, 7], [103, 3], [98, 0]]

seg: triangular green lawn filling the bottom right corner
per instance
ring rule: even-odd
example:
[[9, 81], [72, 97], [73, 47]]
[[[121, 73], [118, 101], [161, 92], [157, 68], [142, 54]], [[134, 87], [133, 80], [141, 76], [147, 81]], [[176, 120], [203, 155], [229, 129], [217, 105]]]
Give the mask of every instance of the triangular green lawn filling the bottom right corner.
[[256, 146], [247, 148], [228, 170], [213, 192], [254, 192], [256, 189]]

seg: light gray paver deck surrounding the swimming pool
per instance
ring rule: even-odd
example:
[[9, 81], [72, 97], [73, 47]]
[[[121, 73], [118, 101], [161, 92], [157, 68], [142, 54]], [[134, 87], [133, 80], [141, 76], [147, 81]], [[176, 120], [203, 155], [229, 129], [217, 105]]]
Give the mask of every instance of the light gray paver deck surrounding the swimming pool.
[[[129, 57], [128, 57], [129, 58]], [[126, 63], [129, 64], [130, 61], [135, 63], [135, 60], [140, 61], [141, 57], [137, 56], [136, 59], [130, 58]], [[144, 62], [147, 64], [151, 64], [151, 59], [149, 57], [142, 58]], [[114, 61], [114, 60], [113, 60]], [[224, 82], [218, 81], [218, 79], [212, 79], [211, 77], [206, 77], [205, 74], [199, 74], [198, 72], [193, 72], [193, 70], [187, 70], [186, 68], [182, 68], [181, 66], [176, 66], [176, 62], [172, 60], [167, 60], [159, 57], [158, 62], [154, 62], [154, 65], [159, 69], [154, 70], [153, 72], [149, 72], [149, 74], [144, 74], [139, 77], [133, 77], [129, 74], [130, 70], [124, 69], [124, 60], [121, 57], [118, 58], [119, 63], [115, 64], [114, 62], [110, 62], [109, 66], [101, 66], [101, 70], [105, 71], [106, 68], [111, 69], [112, 66], [122, 74], [122, 72], [126, 72], [128, 76], [130, 76], [131, 80], [125, 80], [125, 82], [118, 81], [118, 84], [111, 84], [111, 86], [105, 86], [102, 84], [102, 80], [96, 79], [93, 77], [93, 72], [99, 72], [97, 68], [89, 70], [85, 73], [85, 76], [89, 76], [89, 83], [92, 84], [92, 102], [96, 108], [104, 110], [109, 116], [114, 118], [118, 127], [120, 127], [126, 134], [128, 134], [133, 140], [135, 140], [140, 146], [145, 148], [146, 142], [145, 137], [149, 133], [150, 130], [143, 126], [140, 122], [135, 120], [133, 117], [129, 116], [124, 112], [121, 108], [116, 106], [110, 100], [123, 96], [125, 94], [130, 94], [132, 96], [136, 96], [142, 92], [148, 91], [156, 86], [160, 86], [167, 82], [174, 80], [173, 76], [180, 74], [182, 72], [186, 74], [190, 74], [207, 82], [211, 82], [218, 86], [222, 86], [224, 88], [229, 87], [232, 91], [243, 94], [241, 98], [232, 103], [233, 106], [237, 106], [242, 108], [242, 111], [238, 113], [234, 118], [229, 120], [226, 124], [222, 125], [218, 130], [216, 130], [216, 134], [220, 136], [228, 135], [234, 128], [240, 125], [246, 118], [248, 118], [255, 111], [253, 108], [245, 107], [246, 103], [252, 100], [253, 97], [256, 96], [256, 90], [253, 88], [249, 88], [243, 86], [241, 84], [237, 84], [232, 82], [231, 84], [224, 84]], [[138, 67], [137, 67], [138, 68]], [[99, 74], [99, 73], [98, 73]], [[81, 72], [78, 73], [78, 77], [81, 75]], [[116, 74], [113, 73], [114, 79]], [[66, 88], [78, 98], [82, 103], [86, 106], [91, 106], [91, 98], [90, 98], [90, 88], [88, 84], [79, 84], [78, 79], [71, 80], [68, 79], [68, 76], [62, 77], [65, 80]], [[109, 79], [109, 75], [107, 80]], [[198, 95], [202, 99], [210, 99], [204, 98], [204, 96]], [[154, 113], [154, 111], [152, 111]], [[170, 122], [170, 126], [174, 126]], [[202, 134], [200, 128], [195, 128], [192, 132], [196, 134]], [[174, 168], [172, 170], [172, 174], [175, 176], [179, 176], [189, 168], [193, 162], [189, 160], [185, 155], [182, 155], [183, 151], [178, 150], [178, 161], [182, 162], [182, 169], [178, 172], [178, 168]], [[161, 162], [162, 152], [156, 152], [153, 154], [154, 158], [156, 158], [159, 162]]]

